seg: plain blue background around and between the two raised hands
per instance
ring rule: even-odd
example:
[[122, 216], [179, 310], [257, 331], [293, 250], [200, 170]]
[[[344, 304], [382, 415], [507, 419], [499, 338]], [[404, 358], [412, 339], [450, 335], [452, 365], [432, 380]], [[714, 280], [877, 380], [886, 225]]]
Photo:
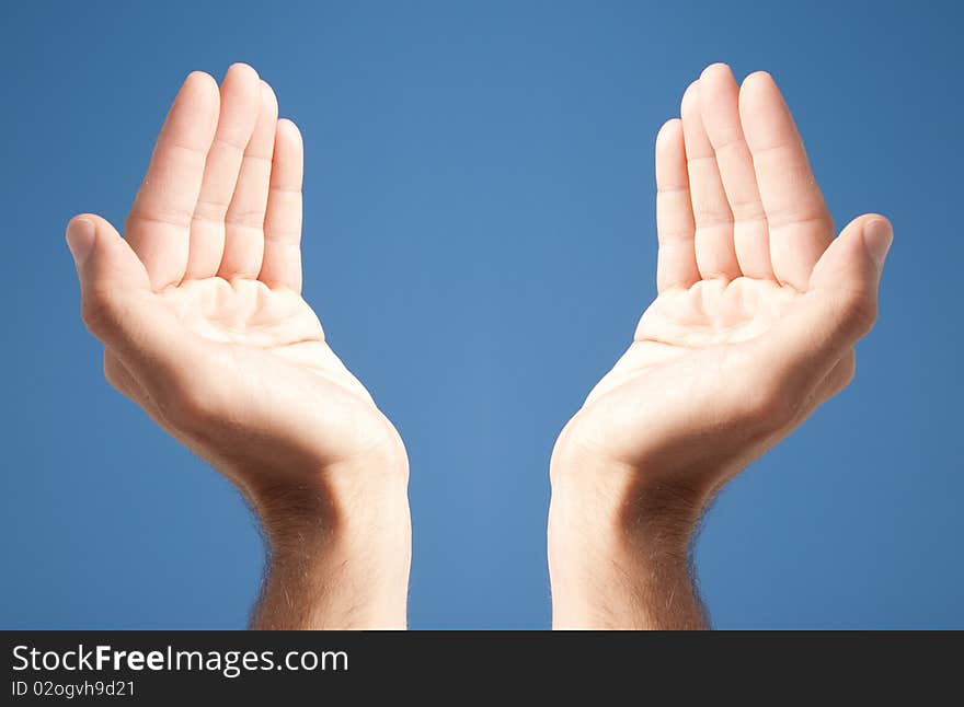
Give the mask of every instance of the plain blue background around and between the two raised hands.
[[4, 3], [0, 626], [245, 625], [255, 526], [104, 382], [62, 237], [82, 210], [120, 224], [183, 77], [243, 60], [305, 134], [307, 299], [411, 454], [411, 626], [547, 627], [549, 453], [654, 294], [655, 131], [724, 60], [776, 76], [838, 223], [880, 210], [896, 242], [856, 382], [707, 519], [714, 624], [964, 628], [962, 20]]

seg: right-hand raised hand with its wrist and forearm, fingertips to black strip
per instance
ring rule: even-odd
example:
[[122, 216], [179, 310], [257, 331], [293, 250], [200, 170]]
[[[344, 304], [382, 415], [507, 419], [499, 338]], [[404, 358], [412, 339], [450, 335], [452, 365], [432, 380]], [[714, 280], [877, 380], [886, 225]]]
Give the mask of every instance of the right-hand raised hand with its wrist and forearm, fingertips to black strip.
[[854, 374], [892, 229], [834, 223], [772, 78], [707, 68], [656, 138], [657, 298], [552, 454], [556, 628], [707, 625], [716, 491]]

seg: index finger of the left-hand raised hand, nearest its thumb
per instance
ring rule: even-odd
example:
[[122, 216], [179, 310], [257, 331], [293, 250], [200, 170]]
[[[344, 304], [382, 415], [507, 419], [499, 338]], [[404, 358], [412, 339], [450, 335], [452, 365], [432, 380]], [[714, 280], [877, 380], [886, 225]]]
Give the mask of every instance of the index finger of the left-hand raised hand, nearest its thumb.
[[184, 81], [158, 136], [124, 232], [154, 289], [181, 281], [191, 219], [218, 123], [218, 84], [195, 71]]

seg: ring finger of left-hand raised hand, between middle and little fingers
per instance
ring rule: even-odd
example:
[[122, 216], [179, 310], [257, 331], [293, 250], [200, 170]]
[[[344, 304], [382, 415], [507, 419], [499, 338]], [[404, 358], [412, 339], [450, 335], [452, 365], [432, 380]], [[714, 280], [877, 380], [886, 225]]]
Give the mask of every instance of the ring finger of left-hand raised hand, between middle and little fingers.
[[272, 154], [278, 102], [271, 86], [261, 82], [261, 107], [254, 132], [244, 150], [238, 184], [225, 216], [225, 254], [218, 275], [230, 280], [256, 278], [264, 257], [264, 213], [271, 184]]

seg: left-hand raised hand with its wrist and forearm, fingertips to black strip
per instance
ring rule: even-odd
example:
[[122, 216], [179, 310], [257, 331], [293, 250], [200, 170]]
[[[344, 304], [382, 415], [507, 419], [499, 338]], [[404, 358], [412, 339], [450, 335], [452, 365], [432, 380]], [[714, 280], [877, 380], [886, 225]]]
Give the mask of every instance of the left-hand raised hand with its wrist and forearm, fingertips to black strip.
[[271, 86], [187, 77], [124, 233], [67, 229], [104, 372], [237, 485], [268, 569], [257, 628], [402, 628], [408, 456], [301, 298], [302, 144]]

